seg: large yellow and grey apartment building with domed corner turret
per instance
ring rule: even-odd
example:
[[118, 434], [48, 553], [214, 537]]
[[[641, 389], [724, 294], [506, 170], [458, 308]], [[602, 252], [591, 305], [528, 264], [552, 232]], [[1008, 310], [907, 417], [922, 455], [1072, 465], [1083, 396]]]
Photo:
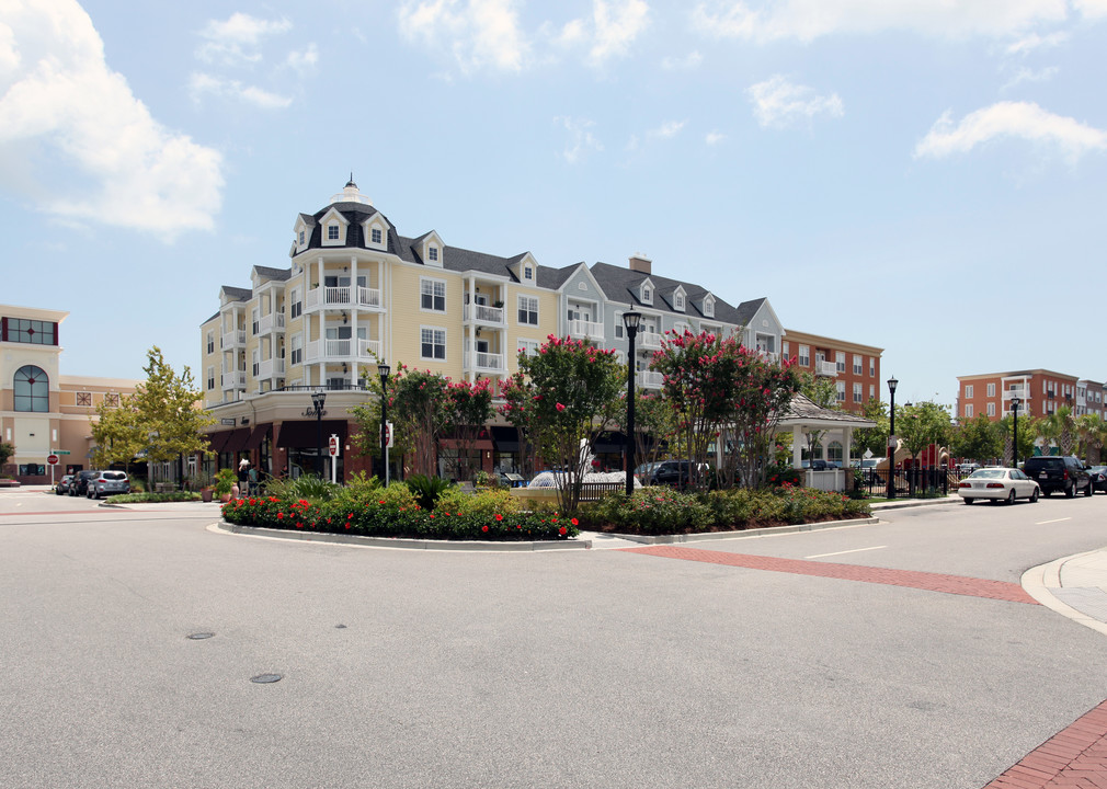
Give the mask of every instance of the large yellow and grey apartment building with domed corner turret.
[[[349, 475], [366, 461], [348, 456], [348, 409], [364, 402], [377, 360], [454, 378], [490, 378], [517, 370], [550, 334], [588, 339], [625, 359], [622, 314], [643, 314], [637, 339], [639, 383], [660, 387], [650, 370], [665, 332], [741, 334], [777, 354], [783, 330], [766, 299], [732, 307], [687, 282], [652, 273], [634, 256], [627, 268], [540, 266], [529, 252], [499, 257], [448, 246], [435, 231], [411, 238], [351, 180], [324, 208], [301, 214], [288, 269], [255, 267], [249, 289], [224, 287], [219, 310], [200, 326], [204, 403], [219, 418], [211, 434], [220, 466], [249, 456], [263, 470], [310, 469], [318, 430], [310, 392], [324, 390], [325, 436], [345, 447]], [[482, 445], [486, 468], [513, 461]], [[510, 445], [510, 437], [505, 445]], [[368, 470], [368, 468], [366, 468]]]

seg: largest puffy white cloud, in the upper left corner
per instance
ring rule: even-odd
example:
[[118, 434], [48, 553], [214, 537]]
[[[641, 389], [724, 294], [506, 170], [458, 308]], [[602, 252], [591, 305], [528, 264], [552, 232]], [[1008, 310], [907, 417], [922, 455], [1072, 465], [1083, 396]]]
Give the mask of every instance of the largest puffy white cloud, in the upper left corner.
[[[107, 68], [103, 41], [75, 1], [4, 0], [0, 31], [0, 173], [38, 173], [7, 186], [66, 221], [167, 239], [213, 227], [219, 153], [151, 116]], [[68, 181], [43, 172], [54, 163], [72, 170]]]

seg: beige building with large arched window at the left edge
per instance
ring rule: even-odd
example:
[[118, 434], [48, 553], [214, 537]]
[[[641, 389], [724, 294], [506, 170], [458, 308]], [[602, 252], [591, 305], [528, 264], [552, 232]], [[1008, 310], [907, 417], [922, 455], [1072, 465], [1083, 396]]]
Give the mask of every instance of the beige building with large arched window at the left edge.
[[50, 481], [46, 457], [60, 463], [54, 479], [86, 468], [96, 406], [117, 404], [137, 381], [62, 375], [61, 310], [0, 305], [0, 430], [15, 455], [3, 473], [24, 485]]

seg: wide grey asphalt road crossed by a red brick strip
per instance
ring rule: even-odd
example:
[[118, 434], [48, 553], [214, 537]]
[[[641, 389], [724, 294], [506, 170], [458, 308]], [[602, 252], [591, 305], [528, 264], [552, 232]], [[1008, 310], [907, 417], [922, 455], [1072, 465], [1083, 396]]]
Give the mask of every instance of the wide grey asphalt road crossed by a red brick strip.
[[[979, 789], [1107, 698], [1104, 636], [1041, 605], [213, 515], [0, 491], [0, 786]], [[1105, 515], [950, 505], [695, 547], [1017, 582], [1107, 544]]]

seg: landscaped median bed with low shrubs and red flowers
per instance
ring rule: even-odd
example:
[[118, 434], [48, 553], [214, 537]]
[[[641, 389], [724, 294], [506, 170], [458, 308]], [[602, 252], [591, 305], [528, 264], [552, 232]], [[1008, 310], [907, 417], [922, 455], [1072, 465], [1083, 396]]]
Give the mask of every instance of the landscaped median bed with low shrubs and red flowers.
[[223, 507], [236, 526], [417, 540], [557, 541], [581, 529], [624, 534], [687, 534], [869, 517], [868, 502], [811, 488], [679, 492], [642, 488], [581, 505], [573, 515], [526, 502], [507, 489], [430, 496], [407, 485], [355, 484], [320, 496], [255, 496]]

